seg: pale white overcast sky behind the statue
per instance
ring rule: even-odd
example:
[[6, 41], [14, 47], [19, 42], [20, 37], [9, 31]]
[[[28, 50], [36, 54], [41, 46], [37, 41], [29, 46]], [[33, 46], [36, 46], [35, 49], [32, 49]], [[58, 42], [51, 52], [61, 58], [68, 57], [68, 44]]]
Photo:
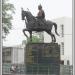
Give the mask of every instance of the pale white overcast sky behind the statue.
[[10, 0], [14, 4], [15, 14], [12, 14], [12, 30], [3, 41], [3, 46], [15, 46], [22, 44], [25, 40], [22, 30], [25, 28], [25, 22], [21, 20], [21, 8], [29, 9], [36, 16], [38, 5], [41, 4], [45, 11], [46, 20], [53, 20], [60, 17], [72, 17], [72, 0]]

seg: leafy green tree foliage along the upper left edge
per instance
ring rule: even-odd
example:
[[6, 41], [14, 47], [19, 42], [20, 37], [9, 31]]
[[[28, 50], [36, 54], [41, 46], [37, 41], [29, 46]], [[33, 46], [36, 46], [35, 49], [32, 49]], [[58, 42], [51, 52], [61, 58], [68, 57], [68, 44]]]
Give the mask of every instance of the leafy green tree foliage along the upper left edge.
[[12, 28], [11, 20], [13, 19], [12, 13], [15, 8], [13, 4], [9, 3], [8, 0], [2, 0], [2, 31], [3, 38], [9, 33], [9, 30]]

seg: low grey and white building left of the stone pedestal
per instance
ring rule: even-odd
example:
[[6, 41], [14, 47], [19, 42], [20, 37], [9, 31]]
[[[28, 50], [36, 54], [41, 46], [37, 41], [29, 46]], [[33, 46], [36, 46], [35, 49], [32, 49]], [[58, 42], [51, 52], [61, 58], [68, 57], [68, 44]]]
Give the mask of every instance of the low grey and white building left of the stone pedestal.
[[24, 47], [3, 47], [3, 63], [24, 64]]

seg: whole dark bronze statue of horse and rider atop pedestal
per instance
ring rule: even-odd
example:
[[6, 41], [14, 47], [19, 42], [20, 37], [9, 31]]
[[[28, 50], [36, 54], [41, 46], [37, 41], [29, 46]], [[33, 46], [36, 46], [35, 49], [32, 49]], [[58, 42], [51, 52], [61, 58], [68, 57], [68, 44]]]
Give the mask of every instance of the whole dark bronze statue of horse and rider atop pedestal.
[[59, 36], [59, 34], [57, 33], [57, 24], [45, 19], [45, 13], [41, 5], [38, 6], [38, 10], [39, 12], [35, 17], [29, 10], [24, 11], [23, 8], [21, 9], [22, 20], [25, 20], [26, 23], [26, 28], [23, 29], [24, 35], [28, 38], [27, 34], [25, 33], [25, 31], [28, 31], [30, 33], [30, 40], [32, 41], [32, 31], [46, 31], [49, 35], [51, 35], [52, 42], [56, 42], [55, 35], [51, 32], [51, 30], [54, 26], [55, 33]]

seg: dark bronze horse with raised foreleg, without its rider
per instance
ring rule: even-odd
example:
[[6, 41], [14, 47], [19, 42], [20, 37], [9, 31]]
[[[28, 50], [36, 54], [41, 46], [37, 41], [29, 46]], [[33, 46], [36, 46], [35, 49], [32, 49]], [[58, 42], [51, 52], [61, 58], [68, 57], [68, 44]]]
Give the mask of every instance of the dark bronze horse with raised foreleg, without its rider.
[[28, 36], [25, 33], [25, 31], [28, 31], [30, 33], [31, 41], [32, 41], [32, 31], [36, 31], [36, 32], [46, 31], [49, 35], [51, 35], [52, 42], [56, 42], [55, 35], [51, 32], [52, 27], [54, 25], [55, 33], [59, 36], [59, 34], [57, 33], [57, 24], [55, 22], [47, 20], [46, 25], [44, 24], [39, 25], [37, 22], [37, 19], [31, 14], [31, 12], [24, 11], [23, 9], [22, 9], [21, 15], [22, 15], [22, 20], [25, 20], [25, 23], [26, 23], [26, 29], [23, 29], [23, 33], [27, 38]]

